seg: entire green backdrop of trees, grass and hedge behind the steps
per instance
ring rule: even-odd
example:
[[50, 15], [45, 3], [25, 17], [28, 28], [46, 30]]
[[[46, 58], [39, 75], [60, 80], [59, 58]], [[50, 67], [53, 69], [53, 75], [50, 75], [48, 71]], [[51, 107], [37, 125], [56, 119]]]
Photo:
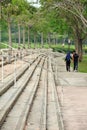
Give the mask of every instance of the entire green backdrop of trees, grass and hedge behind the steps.
[[9, 48], [75, 49], [84, 62], [87, 0], [40, 0], [40, 4], [37, 8], [27, 0], [0, 1], [0, 48], [6, 48], [5, 43]]

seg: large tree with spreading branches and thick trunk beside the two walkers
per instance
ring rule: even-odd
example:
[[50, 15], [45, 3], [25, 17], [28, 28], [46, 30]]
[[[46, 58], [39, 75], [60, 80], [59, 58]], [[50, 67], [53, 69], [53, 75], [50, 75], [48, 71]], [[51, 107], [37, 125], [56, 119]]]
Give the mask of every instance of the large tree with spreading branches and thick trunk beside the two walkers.
[[82, 60], [82, 47], [87, 39], [87, 1], [86, 0], [41, 0], [44, 9], [56, 11], [64, 24], [67, 23], [68, 34], [75, 41], [75, 48]]

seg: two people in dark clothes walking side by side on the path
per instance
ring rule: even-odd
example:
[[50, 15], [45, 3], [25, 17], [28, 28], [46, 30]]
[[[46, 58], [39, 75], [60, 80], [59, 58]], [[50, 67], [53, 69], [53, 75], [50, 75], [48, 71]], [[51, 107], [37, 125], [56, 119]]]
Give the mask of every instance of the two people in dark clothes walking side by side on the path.
[[76, 53], [76, 51], [73, 52], [73, 56], [71, 56], [70, 52], [67, 53], [65, 57], [67, 71], [70, 71], [71, 59], [73, 60], [73, 71], [78, 71], [78, 58], [79, 55]]

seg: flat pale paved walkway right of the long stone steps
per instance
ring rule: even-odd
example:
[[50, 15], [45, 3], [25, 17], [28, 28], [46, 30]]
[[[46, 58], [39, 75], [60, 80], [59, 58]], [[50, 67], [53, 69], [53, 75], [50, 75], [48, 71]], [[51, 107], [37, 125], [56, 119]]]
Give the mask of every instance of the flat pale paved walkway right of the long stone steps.
[[87, 130], [87, 73], [66, 72], [60, 57], [58, 84], [65, 130]]

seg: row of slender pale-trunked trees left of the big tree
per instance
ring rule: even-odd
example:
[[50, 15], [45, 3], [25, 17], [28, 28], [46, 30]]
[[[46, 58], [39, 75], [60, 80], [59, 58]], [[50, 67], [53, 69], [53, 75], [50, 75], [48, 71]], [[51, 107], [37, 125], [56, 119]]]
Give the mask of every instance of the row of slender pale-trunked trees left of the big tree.
[[[50, 35], [53, 33], [47, 16], [41, 8], [31, 6], [27, 0], [2, 0], [1, 19], [2, 29], [8, 26], [9, 46], [12, 46], [12, 28], [18, 33], [18, 46], [23, 39], [25, 47], [25, 33], [27, 31], [28, 47], [30, 47], [30, 30], [33, 32], [34, 43], [36, 45], [37, 33], [40, 35], [41, 46], [43, 47], [44, 38], [50, 45]], [[22, 33], [21, 33], [22, 31]], [[21, 36], [22, 34], [22, 36]]]

